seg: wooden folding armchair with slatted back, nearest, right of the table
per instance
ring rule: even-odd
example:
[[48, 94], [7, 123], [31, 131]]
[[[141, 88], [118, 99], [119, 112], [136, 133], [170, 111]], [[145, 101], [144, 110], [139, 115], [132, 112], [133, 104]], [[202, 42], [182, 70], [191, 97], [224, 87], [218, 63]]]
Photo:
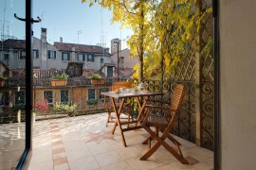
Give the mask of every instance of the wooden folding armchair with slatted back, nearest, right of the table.
[[[155, 151], [159, 148], [160, 145], [163, 145], [174, 157], [183, 164], [188, 164], [189, 162], [185, 160], [180, 150], [180, 143], [178, 143], [174, 137], [170, 135], [171, 130], [174, 127], [174, 123], [177, 120], [178, 111], [181, 107], [182, 100], [184, 97], [184, 86], [181, 84], [177, 84], [174, 89], [174, 95], [171, 100], [170, 107], [162, 107], [166, 106], [166, 104], [170, 105], [170, 103], [148, 100], [146, 99], [143, 103], [142, 110], [143, 116], [141, 116], [141, 127], [143, 127], [146, 131], [150, 133], [150, 137], [143, 142], [145, 144], [148, 142], [149, 150], [140, 158], [140, 160], [145, 161], [150, 158]], [[157, 103], [160, 106], [149, 105], [152, 102]], [[160, 110], [158, 114], [153, 113], [153, 110]], [[152, 129], [155, 127], [155, 131]], [[161, 132], [161, 135], [160, 135]], [[165, 139], [168, 138], [174, 144], [171, 146], [165, 142]], [[156, 143], [151, 147], [151, 140], [156, 140]]]

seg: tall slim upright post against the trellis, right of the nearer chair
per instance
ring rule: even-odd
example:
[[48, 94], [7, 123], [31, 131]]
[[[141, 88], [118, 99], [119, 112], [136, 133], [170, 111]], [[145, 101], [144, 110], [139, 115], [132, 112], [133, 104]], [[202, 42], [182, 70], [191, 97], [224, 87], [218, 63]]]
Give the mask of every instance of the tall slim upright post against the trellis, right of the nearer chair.
[[[202, 0], [196, 0], [196, 19], [199, 19], [202, 11]], [[196, 144], [202, 145], [202, 28], [200, 26], [195, 36], [195, 120], [196, 120]]]

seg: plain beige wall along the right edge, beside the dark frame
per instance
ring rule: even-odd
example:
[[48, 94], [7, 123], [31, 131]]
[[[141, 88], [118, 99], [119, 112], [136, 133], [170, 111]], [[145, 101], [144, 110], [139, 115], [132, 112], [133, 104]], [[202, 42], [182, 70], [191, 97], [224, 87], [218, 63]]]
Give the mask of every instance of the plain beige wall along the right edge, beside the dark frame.
[[256, 0], [220, 0], [223, 170], [256, 167]]

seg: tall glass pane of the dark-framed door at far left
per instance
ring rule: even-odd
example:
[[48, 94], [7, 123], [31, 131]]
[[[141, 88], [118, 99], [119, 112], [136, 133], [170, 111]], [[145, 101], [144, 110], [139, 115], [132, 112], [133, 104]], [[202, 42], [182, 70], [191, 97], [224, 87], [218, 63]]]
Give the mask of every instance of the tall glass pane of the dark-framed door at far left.
[[25, 0], [0, 0], [0, 169], [12, 169], [25, 150]]

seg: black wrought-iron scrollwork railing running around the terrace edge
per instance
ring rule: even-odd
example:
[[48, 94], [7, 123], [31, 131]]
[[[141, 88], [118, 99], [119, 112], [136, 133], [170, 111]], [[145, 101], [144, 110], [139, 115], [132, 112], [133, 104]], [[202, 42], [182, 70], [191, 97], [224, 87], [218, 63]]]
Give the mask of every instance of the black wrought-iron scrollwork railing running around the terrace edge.
[[[82, 115], [94, 112], [104, 112], [104, 103], [101, 96], [101, 92], [111, 91], [113, 82], [127, 80], [133, 84], [133, 88], [138, 85], [137, 79], [128, 78], [104, 78], [104, 84], [92, 85], [89, 78], [86, 77], [72, 77], [67, 79], [67, 85], [64, 87], [52, 87], [49, 78], [34, 78], [34, 105], [42, 98], [46, 98], [51, 101], [47, 112], [38, 114], [38, 118], [52, 118], [56, 116], [73, 116]], [[147, 89], [150, 92], [161, 92], [164, 93], [162, 96], [155, 96], [156, 100], [164, 100], [170, 102], [174, 93], [174, 86], [177, 83], [181, 83], [186, 88], [184, 101], [180, 110], [177, 123], [174, 126], [173, 133], [183, 139], [186, 139], [192, 143], [196, 142], [196, 116], [195, 116], [195, 100], [196, 87], [193, 81], [177, 81], [177, 80], [143, 80], [147, 85]], [[25, 83], [24, 79], [9, 79], [9, 86], [13, 87], [22, 86]], [[17, 85], [18, 84], [18, 85]], [[213, 149], [213, 82], [203, 82], [202, 84], [202, 100], [201, 100], [201, 111], [202, 111], [202, 131], [204, 147]], [[16, 88], [12, 88], [16, 91]], [[91, 89], [91, 90], [88, 90]], [[44, 92], [50, 93], [49, 98]], [[66, 91], [66, 92], [64, 92]], [[12, 93], [13, 94], [13, 93]], [[9, 93], [11, 95], [11, 93]], [[6, 97], [11, 100], [15, 96]], [[51, 98], [51, 99], [50, 99]], [[88, 101], [89, 99], [95, 99], [94, 101]], [[9, 101], [10, 102], [10, 101]], [[11, 101], [14, 103], [14, 101]], [[56, 110], [54, 109], [55, 103], [65, 103], [65, 105], [71, 107], [76, 106], [76, 110]], [[5, 101], [5, 103], [8, 103]], [[134, 116], [137, 115], [137, 102], [132, 101], [132, 111]], [[155, 114], [159, 114], [155, 110]], [[12, 114], [11, 114], [12, 115]]]

